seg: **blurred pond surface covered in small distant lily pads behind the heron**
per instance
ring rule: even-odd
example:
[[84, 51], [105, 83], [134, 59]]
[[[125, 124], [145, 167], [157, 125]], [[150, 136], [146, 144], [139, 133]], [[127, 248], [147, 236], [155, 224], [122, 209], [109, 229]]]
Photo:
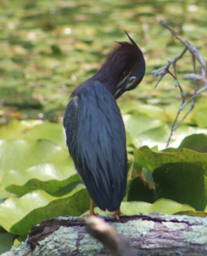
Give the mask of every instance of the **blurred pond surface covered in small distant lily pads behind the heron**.
[[[74, 88], [92, 76], [116, 45], [127, 41], [125, 29], [142, 49], [146, 75], [118, 104], [134, 104], [140, 113], [172, 122], [181, 100], [174, 81], [167, 76], [153, 89], [153, 69], [178, 55], [183, 46], [158, 25], [164, 19], [183, 38], [206, 53], [206, 1], [49, 1], [3, 0], [0, 8], [0, 123], [11, 118], [62, 120]], [[191, 57], [178, 64], [178, 78], [192, 72]], [[187, 97], [192, 83], [183, 81]], [[185, 123], [207, 126], [202, 115], [206, 93]]]

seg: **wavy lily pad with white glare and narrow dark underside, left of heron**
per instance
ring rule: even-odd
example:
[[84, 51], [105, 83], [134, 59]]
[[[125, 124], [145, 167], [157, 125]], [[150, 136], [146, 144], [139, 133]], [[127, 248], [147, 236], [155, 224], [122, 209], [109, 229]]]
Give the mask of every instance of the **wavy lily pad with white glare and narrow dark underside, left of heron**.
[[[57, 163], [41, 163], [22, 171], [11, 170], [2, 178], [2, 186], [6, 191], [18, 196], [37, 189], [43, 189], [54, 195], [58, 190], [77, 182], [82, 180], [74, 165], [62, 166]], [[69, 187], [68, 189], [70, 190]]]

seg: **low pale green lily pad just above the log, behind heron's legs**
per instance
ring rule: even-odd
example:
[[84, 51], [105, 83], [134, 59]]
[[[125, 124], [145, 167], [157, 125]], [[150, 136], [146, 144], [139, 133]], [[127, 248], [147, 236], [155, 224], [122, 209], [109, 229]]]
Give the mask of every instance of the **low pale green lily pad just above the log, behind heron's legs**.
[[[110, 214], [108, 211], [102, 211], [98, 207], [94, 208], [95, 213], [99, 213], [99, 215]], [[122, 202], [120, 210], [123, 214], [133, 215], [138, 214], [140, 212], [150, 213], [152, 211], [166, 214], [174, 214], [180, 211], [191, 210], [195, 211], [195, 209], [187, 204], [179, 204], [175, 201], [168, 199], [159, 199], [155, 201], [153, 204], [146, 202]], [[85, 212], [83, 215], [89, 214], [89, 211]]]

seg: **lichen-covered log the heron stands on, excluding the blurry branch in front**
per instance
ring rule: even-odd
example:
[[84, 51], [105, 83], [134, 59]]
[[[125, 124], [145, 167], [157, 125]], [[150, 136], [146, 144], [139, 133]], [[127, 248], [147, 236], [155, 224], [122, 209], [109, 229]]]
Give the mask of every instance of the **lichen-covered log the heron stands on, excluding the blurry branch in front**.
[[[207, 218], [167, 215], [152, 212], [104, 216], [120, 239], [133, 248], [133, 255], [207, 255]], [[103, 256], [112, 253], [87, 233], [86, 223], [79, 217], [58, 217], [33, 227], [25, 242], [2, 256]], [[118, 254], [117, 254], [118, 255]], [[126, 254], [124, 254], [126, 255]]]

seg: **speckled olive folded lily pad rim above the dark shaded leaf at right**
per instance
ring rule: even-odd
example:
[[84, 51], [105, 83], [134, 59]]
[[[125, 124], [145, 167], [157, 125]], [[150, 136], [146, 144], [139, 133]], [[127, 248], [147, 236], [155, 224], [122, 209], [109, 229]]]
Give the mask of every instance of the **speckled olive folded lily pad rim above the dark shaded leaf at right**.
[[176, 162], [197, 164], [207, 172], [207, 153], [198, 153], [191, 149], [183, 148], [176, 153], [169, 153], [153, 151], [148, 146], [143, 146], [134, 151], [134, 157], [140, 165], [151, 172], [163, 164]]

